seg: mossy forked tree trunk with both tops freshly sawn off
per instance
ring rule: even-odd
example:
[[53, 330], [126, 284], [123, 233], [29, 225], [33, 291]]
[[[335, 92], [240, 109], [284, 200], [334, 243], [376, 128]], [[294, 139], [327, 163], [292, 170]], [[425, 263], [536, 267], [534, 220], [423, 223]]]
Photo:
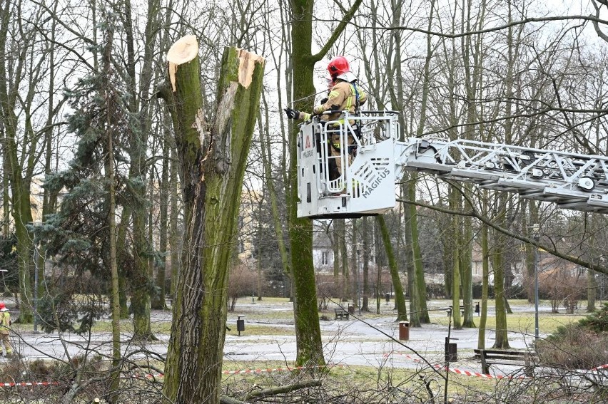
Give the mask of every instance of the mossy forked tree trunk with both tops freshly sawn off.
[[[175, 128], [186, 212], [183, 269], [166, 360], [165, 403], [219, 403], [228, 268], [245, 163], [263, 81], [263, 58], [226, 48], [213, 123], [203, 118], [198, 43], [168, 53], [165, 98]], [[316, 308], [316, 297], [313, 296]], [[315, 311], [316, 313], [316, 311]]]

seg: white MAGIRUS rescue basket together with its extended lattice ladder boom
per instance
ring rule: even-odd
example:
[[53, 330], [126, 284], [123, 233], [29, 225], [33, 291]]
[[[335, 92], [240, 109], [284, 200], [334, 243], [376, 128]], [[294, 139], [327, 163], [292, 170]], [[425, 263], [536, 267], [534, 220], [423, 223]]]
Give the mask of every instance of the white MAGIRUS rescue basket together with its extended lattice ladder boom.
[[[298, 217], [387, 212], [395, 207], [395, 183], [405, 170], [514, 192], [559, 208], [608, 213], [608, 157], [437, 135], [400, 141], [397, 118], [395, 111], [361, 111], [301, 123]], [[333, 147], [338, 138], [348, 147]]]

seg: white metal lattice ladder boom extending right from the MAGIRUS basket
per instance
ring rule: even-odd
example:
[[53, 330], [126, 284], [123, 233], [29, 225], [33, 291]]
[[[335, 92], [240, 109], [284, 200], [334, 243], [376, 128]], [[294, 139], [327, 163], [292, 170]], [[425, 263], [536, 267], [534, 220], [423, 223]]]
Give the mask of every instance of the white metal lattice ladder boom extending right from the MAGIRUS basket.
[[608, 213], [608, 157], [439, 138], [396, 145], [400, 170], [474, 182], [564, 209]]

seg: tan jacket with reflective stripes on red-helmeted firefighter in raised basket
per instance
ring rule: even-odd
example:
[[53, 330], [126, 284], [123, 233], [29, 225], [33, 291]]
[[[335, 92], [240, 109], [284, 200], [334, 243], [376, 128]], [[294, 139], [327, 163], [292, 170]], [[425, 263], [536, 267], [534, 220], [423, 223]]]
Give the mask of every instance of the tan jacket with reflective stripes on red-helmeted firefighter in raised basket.
[[[338, 78], [328, 95], [327, 102], [315, 106], [312, 115], [320, 115], [328, 110], [348, 110], [350, 113], [355, 113], [356, 108], [363, 105], [366, 100], [368, 100], [368, 95], [357, 86], [356, 81], [348, 83], [348, 81]], [[298, 119], [310, 120], [312, 115], [310, 113], [300, 113]], [[340, 112], [326, 116], [323, 120], [338, 120], [338, 118], [340, 118]]]

